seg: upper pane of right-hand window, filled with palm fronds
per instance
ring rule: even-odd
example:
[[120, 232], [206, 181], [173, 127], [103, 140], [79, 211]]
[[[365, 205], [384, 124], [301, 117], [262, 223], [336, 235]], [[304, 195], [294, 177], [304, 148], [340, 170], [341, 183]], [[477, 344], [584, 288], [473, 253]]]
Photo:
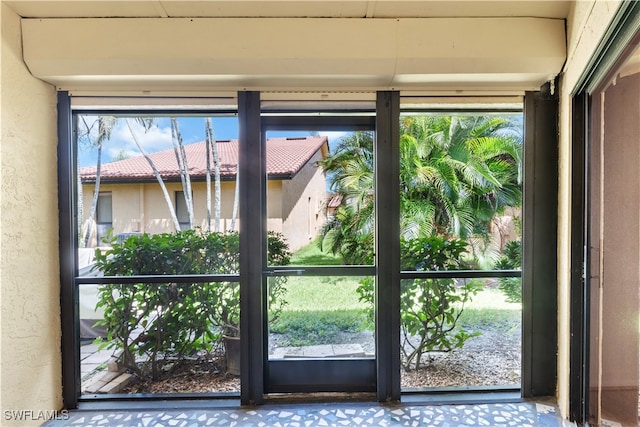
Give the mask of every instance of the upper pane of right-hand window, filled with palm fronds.
[[465, 245], [455, 265], [404, 269], [520, 269], [522, 120], [521, 114], [401, 118], [403, 260], [415, 239]]

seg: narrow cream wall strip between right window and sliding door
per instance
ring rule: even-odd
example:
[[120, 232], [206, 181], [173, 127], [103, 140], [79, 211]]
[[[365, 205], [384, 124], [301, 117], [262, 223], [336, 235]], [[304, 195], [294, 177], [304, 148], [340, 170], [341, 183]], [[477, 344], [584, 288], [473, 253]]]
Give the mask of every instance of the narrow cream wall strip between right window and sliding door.
[[567, 19], [567, 62], [560, 85], [558, 186], [558, 406], [569, 412], [571, 267], [571, 92], [621, 1], [577, 1]]

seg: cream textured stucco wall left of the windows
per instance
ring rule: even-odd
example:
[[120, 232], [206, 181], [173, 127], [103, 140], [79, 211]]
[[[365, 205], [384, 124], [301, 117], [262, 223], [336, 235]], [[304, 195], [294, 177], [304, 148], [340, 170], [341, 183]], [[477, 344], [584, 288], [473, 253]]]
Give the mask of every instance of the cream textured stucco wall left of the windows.
[[[25, 67], [18, 16], [0, 14], [0, 425], [38, 425], [62, 406], [56, 92]], [[20, 410], [36, 413], [5, 412]]]

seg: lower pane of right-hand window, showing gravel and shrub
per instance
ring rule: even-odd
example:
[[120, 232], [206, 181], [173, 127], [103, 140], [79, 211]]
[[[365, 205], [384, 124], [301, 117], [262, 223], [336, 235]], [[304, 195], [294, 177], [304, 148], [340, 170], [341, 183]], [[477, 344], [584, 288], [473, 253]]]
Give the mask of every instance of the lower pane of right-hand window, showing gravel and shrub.
[[520, 386], [522, 304], [498, 286], [491, 278], [403, 280], [403, 389]]

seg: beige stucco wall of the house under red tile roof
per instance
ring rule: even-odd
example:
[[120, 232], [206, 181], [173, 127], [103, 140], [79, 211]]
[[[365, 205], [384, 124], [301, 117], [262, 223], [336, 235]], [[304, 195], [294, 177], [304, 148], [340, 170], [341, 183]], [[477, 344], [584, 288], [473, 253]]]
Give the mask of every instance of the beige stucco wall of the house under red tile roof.
[[[320, 153], [317, 153], [291, 181], [268, 181], [267, 227], [269, 230], [284, 233], [293, 250], [308, 243], [309, 236], [317, 235], [319, 226], [324, 223], [324, 211], [321, 209], [321, 204], [326, 195], [325, 182], [322, 173], [315, 167], [315, 163], [320, 160], [320, 157]], [[182, 191], [182, 185], [170, 182], [166, 183], [166, 186], [175, 207], [175, 192]], [[205, 229], [206, 184], [193, 182], [191, 189], [194, 199], [195, 224]], [[157, 182], [101, 184], [100, 192], [111, 192], [114, 234], [167, 233], [174, 230], [167, 203]], [[85, 230], [93, 198], [92, 184], [83, 186], [82, 196], [84, 204], [83, 230]], [[223, 181], [220, 208], [221, 231], [231, 229], [234, 197], [235, 181]], [[213, 211], [213, 194], [211, 203]], [[319, 216], [316, 217], [316, 214]], [[240, 222], [236, 218], [236, 230], [239, 224]], [[211, 226], [214, 226], [213, 218]], [[96, 244], [95, 224], [92, 230], [89, 246]]]

